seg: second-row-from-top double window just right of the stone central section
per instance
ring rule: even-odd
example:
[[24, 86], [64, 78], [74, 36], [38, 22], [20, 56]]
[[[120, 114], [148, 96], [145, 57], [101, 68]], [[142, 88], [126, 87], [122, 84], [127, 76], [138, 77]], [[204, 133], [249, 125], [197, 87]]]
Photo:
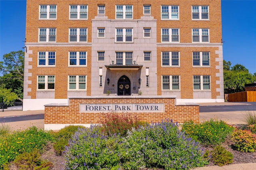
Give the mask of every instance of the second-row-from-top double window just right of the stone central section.
[[162, 43], [180, 42], [180, 29], [178, 28], [162, 28]]

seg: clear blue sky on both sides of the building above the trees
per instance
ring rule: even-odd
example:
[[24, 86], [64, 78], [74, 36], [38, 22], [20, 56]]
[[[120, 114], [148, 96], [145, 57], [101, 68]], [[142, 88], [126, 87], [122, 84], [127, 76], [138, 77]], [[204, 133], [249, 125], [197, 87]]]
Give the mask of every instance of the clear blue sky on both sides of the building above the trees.
[[[12, 9], [12, 12], [10, 10]], [[223, 58], [256, 72], [256, 0], [222, 0]], [[0, 60], [24, 50], [26, 0], [0, 0]]]

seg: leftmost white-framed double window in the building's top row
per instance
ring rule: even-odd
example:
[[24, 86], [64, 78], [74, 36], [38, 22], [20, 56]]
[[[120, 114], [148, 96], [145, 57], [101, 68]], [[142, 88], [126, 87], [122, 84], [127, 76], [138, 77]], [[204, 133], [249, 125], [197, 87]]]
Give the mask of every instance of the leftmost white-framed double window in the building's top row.
[[56, 20], [57, 5], [40, 5], [39, 19]]

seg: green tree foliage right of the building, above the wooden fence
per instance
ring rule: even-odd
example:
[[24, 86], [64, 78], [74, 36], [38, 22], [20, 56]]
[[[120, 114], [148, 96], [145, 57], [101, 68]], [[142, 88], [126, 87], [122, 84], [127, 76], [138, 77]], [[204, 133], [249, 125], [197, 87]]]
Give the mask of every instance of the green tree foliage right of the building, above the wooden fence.
[[245, 66], [235, 64], [231, 66], [230, 61], [223, 60], [224, 93], [230, 94], [243, 92], [244, 85], [256, 81], [255, 73], [251, 74]]

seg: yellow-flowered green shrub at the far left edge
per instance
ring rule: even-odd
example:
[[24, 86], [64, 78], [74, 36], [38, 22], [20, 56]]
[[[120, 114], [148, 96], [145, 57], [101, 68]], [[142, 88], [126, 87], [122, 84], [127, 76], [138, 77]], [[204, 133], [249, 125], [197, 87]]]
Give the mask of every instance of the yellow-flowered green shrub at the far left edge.
[[30, 127], [25, 131], [16, 131], [7, 137], [0, 137], [0, 169], [3, 164], [14, 160], [23, 152], [31, 152], [34, 148], [42, 150], [44, 145], [52, 141], [52, 135], [43, 129]]

